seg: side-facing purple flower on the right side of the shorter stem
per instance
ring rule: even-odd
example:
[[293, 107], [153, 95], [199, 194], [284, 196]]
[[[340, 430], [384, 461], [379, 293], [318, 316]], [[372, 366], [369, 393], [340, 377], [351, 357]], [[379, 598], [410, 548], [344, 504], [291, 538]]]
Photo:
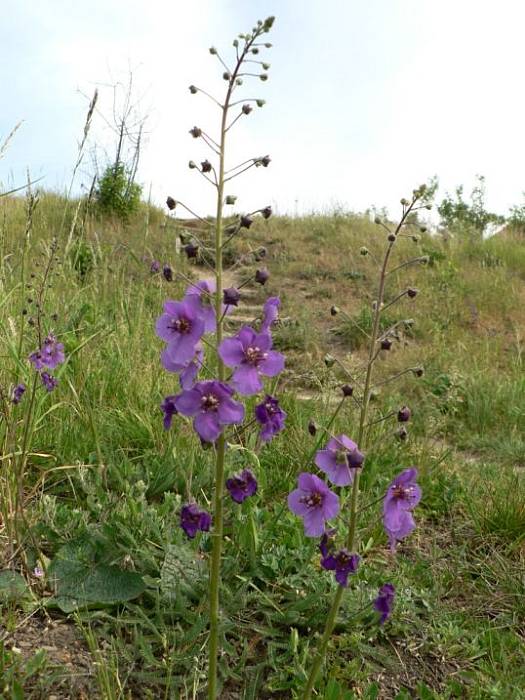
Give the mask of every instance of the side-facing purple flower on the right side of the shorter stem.
[[405, 469], [392, 481], [383, 501], [383, 525], [390, 548], [409, 535], [416, 524], [412, 511], [421, 500], [421, 489], [416, 484], [417, 469]]

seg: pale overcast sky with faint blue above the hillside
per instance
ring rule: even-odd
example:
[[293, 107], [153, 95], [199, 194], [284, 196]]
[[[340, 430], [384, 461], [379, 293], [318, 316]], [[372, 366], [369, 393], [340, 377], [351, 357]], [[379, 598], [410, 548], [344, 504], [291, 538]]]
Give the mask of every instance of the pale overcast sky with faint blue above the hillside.
[[[399, 198], [436, 174], [441, 193], [477, 173], [491, 208], [506, 213], [525, 190], [525, 2], [519, 0], [2, 0], [0, 139], [23, 124], [4, 159], [4, 187], [29, 168], [64, 189], [97, 85], [134, 70], [149, 115], [139, 180], [203, 213], [209, 186], [187, 168], [208, 153], [194, 124], [217, 133], [217, 113], [195, 83], [220, 95], [210, 45], [258, 18], [276, 22], [270, 80], [246, 84], [263, 109], [232, 134], [231, 164], [269, 154], [269, 168], [232, 183], [240, 208], [280, 212], [370, 205]], [[266, 56], [264, 57], [266, 60]], [[100, 111], [112, 93], [101, 88]], [[101, 115], [93, 137], [110, 143]], [[89, 182], [89, 161], [77, 185]]]

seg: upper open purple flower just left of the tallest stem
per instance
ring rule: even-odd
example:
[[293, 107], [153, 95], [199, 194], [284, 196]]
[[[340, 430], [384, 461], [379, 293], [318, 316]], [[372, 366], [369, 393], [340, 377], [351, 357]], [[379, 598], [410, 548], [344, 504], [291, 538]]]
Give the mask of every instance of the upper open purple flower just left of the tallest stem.
[[193, 359], [197, 343], [204, 334], [204, 319], [193, 304], [167, 301], [155, 329], [159, 338], [168, 343], [173, 362], [185, 365]]

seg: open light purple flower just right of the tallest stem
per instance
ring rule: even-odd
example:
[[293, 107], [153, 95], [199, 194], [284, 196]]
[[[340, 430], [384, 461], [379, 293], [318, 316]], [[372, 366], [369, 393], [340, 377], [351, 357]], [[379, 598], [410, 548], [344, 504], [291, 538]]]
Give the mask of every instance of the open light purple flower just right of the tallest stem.
[[227, 367], [235, 367], [232, 386], [245, 396], [257, 394], [263, 388], [260, 375], [275, 377], [284, 369], [284, 355], [271, 350], [269, 333], [256, 333], [243, 326], [234, 338], [223, 340], [219, 355]]

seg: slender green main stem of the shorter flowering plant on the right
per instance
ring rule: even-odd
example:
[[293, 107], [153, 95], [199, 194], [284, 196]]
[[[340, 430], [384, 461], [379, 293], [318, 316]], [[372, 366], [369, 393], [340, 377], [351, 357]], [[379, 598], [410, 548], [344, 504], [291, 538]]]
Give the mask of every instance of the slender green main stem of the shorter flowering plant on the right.
[[[402, 200], [402, 205], [403, 205], [403, 213], [401, 216], [401, 219], [394, 231], [389, 231], [388, 233], [388, 239], [387, 239], [387, 248], [383, 257], [383, 262], [381, 264], [381, 269], [379, 273], [379, 285], [378, 285], [378, 291], [377, 291], [377, 298], [374, 303], [374, 313], [373, 313], [373, 322], [372, 322], [372, 332], [369, 337], [369, 348], [368, 348], [368, 360], [366, 364], [366, 375], [365, 375], [365, 382], [364, 382], [364, 387], [363, 387], [363, 393], [362, 393], [362, 399], [361, 399], [361, 407], [360, 407], [360, 412], [359, 412], [359, 432], [358, 432], [358, 438], [357, 438], [357, 447], [361, 452], [364, 452], [367, 448], [367, 443], [368, 443], [368, 412], [369, 412], [369, 406], [370, 406], [370, 396], [372, 392], [372, 379], [373, 379], [373, 370], [374, 370], [374, 364], [375, 360], [378, 356], [377, 352], [377, 343], [380, 339], [380, 333], [379, 333], [379, 328], [380, 328], [380, 320], [381, 320], [381, 313], [383, 311], [383, 302], [384, 302], [384, 297], [385, 297], [385, 286], [386, 286], [386, 280], [387, 280], [387, 275], [388, 275], [388, 264], [390, 261], [390, 257], [392, 254], [392, 250], [394, 248], [394, 245], [396, 244], [396, 241], [398, 240], [398, 236], [400, 232], [402, 231], [403, 227], [406, 226], [407, 220], [409, 218], [409, 215], [411, 212], [413, 212], [417, 207], [418, 201], [423, 197], [425, 194], [425, 187], [422, 186], [418, 190], [414, 190], [413, 197], [410, 202], [407, 200]], [[376, 223], [379, 223], [376, 221]], [[387, 229], [388, 230], [388, 229]], [[349, 552], [352, 552], [355, 550], [356, 547], [356, 529], [357, 529], [357, 522], [358, 522], [358, 515], [359, 515], [359, 478], [360, 478], [360, 469], [355, 469], [354, 470], [354, 476], [353, 476], [353, 481], [352, 481], [352, 492], [351, 492], [351, 497], [350, 497], [350, 512], [348, 516], [348, 535], [346, 539], [346, 547]], [[345, 586], [339, 585], [337, 588], [337, 591], [335, 593], [334, 599], [332, 601], [332, 605], [330, 607], [330, 610], [328, 612], [328, 616], [326, 618], [326, 623], [325, 623], [325, 628], [323, 631], [323, 635], [321, 637], [321, 640], [319, 642], [319, 647], [317, 649], [317, 653], [314, 657], [313, 663], [312, 663], [312, 668], [310, 670], [310, 674], [308, 676], [306, 686], [304, 688], [303, 692], [303, 698], [304, 700], [308, 700], [309, 698], [312, 697], [312, 691], [315, 685], [315, 682], [317, 680], [317, 676], [319, 675], [319, 671], [321, 669], [321, 666], [323, 664], [325, 655], [326, 655], [326, 649], [328, 646], [328, 642], [330, 640], [330, 637], [332, 635], [335, 621], [337, 618], [337, 613], [339, 611], [339, 608], [341, 606], [341, 602], [343, 600], [343, 595], [345, 591]]]

